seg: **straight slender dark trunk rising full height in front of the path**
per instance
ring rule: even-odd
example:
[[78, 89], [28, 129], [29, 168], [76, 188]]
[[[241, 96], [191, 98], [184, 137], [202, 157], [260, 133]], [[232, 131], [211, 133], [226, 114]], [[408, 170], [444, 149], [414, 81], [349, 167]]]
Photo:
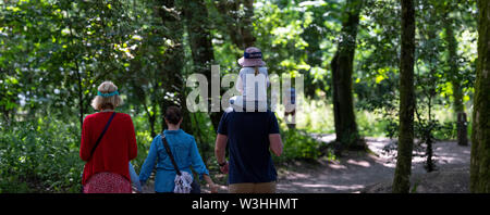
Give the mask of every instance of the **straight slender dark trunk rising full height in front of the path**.
[[414, 53], [415, 7], [413, 0], [402, 0], [402, 52], [400, 62], [400, 132], [393, 192], [407, 193], [411, 187], [412, 152], [414, 148]]

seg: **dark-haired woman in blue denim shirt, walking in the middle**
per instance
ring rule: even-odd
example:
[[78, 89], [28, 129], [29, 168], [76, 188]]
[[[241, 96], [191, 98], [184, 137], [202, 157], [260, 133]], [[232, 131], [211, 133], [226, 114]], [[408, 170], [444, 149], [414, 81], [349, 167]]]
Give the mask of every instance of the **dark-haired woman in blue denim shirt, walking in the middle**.
[[[204, 178], [209, 185], [211, 192], [218, 192], [216, 186], [209, 177], [209, 172], [203, 162], [197, 150], [196, 140], [193, 136], [186, 134], [180, 128], [182, 123], [181, 110], [176, 106], [170, 106], [166, 111], [164, 121], [169, 129], [163, 130], [163, 135], [169, 143], [172, 155], [181, 172], [187, 172], [192, 175], [191, 166], [199, 174], [199, 178]], [[148, 180], [157, 162], [157, 175], [155, 179], [156, 192], [173, 192], [175, 188], [175, 168], [172, 161], [166, 151], [162, 142], [162, 137], [158, 135], [151, 142], [148, 157], [142, 166], [139, 173], [139, 180], [145, 185]]]

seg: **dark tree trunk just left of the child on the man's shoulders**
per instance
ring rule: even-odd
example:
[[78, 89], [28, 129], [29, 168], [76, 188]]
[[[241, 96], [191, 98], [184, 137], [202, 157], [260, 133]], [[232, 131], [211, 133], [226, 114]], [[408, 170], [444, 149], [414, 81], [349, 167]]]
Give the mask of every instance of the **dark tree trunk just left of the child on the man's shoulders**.
[[[208, 83], [211, 81], [211, 64], [215, 61], [212, 50], [211, 34], [209, 31], [208, 10], [205, 2], [195, 0], [184, 0], [182, 8], [187, 26], [188, 43], [191, 45], [194, 61], [194, 72], [206, 76]], [[211, 93], [211, 85], [208, 85], [208, 93]], [[220, 93], [221, 94], [221, 93]], [[211, 97], [208, 101], [208, 110], [211, 110]], [[212, 126], [218, 130], [222, 112], [210, 112]]]

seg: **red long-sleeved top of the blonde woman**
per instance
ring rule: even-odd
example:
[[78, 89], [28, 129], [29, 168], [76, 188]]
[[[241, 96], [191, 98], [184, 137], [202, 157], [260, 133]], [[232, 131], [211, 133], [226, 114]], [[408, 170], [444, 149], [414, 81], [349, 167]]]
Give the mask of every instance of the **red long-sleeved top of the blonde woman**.
[[114, 115], [90, 161], [87, 161], [112, 113], [95, 113], [84, 119], [79, 156], [87, 163], [85, 164], [82, 185], [85, 185], [94, 174], [102, 172], [119, 174], [131, 181], [128, 162], [136, 157], [137, 147], [133, 121], [127, 114], [117, 113]]

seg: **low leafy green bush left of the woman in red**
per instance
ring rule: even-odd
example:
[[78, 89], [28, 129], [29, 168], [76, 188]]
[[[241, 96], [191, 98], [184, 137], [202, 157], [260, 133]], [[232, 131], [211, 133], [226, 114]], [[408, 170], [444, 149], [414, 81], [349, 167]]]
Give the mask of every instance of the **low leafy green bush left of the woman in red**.
[[0, 192], [76, 192], [83, 161], [76, 124], [39, 118], [0, 128]]

